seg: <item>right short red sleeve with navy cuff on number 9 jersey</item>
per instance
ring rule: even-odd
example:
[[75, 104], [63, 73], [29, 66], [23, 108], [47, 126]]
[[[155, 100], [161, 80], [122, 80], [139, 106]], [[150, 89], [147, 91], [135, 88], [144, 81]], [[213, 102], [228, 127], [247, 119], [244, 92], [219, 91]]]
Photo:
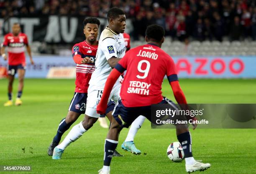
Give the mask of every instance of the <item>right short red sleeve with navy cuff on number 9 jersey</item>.
[[166, 76], [169, 82], [178, 81], [177, 70], [172, 57], [168, 55], [166, 58]]

